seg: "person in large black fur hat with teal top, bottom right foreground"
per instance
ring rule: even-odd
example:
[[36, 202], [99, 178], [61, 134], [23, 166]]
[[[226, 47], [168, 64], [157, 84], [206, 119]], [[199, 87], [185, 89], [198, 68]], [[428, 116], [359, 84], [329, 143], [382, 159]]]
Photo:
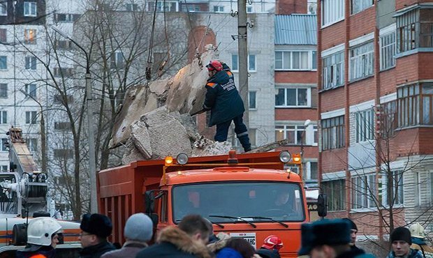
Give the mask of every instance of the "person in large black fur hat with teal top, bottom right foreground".
[[301, 227], [301, 249], [298, 255], [311, 258], [370, 258], [363, 250], [353, 250], [351, 225], [342, 219], [318, 220]]

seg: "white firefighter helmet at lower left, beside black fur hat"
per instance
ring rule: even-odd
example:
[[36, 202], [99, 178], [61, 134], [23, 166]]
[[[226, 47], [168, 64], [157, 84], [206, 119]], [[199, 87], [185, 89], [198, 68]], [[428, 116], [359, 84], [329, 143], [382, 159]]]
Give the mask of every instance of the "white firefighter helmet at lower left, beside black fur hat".
[[27, 227], [27, 243], [51, 245], [52, 234], [58, 232], [61, 225], [54, 218], [40, 217], [30, 220]]

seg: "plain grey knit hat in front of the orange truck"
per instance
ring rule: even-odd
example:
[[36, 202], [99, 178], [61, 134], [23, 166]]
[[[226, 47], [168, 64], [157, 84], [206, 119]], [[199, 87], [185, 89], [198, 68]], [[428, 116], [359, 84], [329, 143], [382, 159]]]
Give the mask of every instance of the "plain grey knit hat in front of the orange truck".
[[129, 240], [147, 242], [152, 239], [154, 225], [145, 213], [135, 213], [126, 220], [124, 236]]

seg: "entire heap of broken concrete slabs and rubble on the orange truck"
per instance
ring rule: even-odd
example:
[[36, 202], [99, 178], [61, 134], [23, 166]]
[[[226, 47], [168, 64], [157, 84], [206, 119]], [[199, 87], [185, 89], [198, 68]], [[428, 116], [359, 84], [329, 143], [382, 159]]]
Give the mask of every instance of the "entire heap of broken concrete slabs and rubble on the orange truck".
[[126, 146], [124, 164], [178, 153], [190, 156], [228, 153], [231, 145], [200, 136], [190, 115], [200, 111], [205, 100], [208, 75], [203, 64], [218, 58], [212, 45], [207, 49], [201, 62], [194, 59], [174, 77], [136, 85], [126, 91], [110, 141], [110, 148]]

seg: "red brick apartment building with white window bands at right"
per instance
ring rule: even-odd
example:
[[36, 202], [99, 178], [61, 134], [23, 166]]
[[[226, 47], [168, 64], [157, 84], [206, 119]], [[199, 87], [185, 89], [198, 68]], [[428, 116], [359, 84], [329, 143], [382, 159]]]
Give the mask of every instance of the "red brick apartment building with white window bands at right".
[[[433, 231], [433, 2], [318, 3], [318, 171], [361, 238]], [[391, 212], [390, 212], [391, 211]]]

